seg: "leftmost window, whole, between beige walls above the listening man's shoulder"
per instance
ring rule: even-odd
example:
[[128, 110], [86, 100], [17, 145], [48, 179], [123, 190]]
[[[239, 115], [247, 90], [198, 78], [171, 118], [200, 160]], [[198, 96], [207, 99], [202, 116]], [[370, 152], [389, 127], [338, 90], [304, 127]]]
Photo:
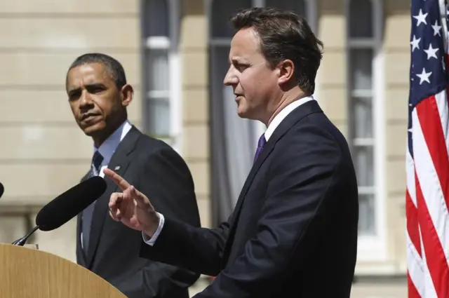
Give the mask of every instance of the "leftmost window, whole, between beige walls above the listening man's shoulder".
[[180, 59], [177, 0], [142, 0], [145, 133], [180, 148]]

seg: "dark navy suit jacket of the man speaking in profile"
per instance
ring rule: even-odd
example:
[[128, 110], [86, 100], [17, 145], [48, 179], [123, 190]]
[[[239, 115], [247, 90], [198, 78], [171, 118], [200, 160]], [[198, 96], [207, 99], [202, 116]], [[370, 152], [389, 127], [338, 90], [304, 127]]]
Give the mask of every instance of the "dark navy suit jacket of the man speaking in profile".
[[141, 254], [217, 275], [198, 298], [349, 298], [357, 226], [347, 142], [311, 101], [274, 130], [227, 222], [198, 229], [168, 217]]

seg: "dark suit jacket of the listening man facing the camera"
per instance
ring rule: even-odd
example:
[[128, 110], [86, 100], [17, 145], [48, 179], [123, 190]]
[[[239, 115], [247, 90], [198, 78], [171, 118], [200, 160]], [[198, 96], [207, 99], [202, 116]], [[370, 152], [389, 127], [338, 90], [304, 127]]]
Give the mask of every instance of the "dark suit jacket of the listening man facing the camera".
[[[200, 226], [194, 182], [182, 158], [166, 143], [133, 127], [120, 142], [108, 168], [146, 194], [171, 218]], [[109, 216], [109, 197], [120, 191], [105, 177], [107, 189], [95, 203], [88, 255], [81, 248], [81, 215], [76, 231], [76, 260], [130, 298], [187, 298], [199, 274], [139, 257], [142, 233]]]

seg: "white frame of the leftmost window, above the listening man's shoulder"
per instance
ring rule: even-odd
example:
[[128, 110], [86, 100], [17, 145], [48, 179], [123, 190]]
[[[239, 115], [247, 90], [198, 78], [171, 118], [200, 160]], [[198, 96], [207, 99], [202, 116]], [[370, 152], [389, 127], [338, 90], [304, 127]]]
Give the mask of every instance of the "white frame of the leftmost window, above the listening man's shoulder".
[[[152, 137], [164, 140], [178, 153], [182, 147], [182, 61], [179, 50], [179, 36], [180, 36], [180, 17], [181, 17], [181, 3], [180, 0], [163, 0], [167, 2], [168, 6], [168, 34], [169, 36], [144, 36], [145, 32], [145, 18], [148, 16], [145, 13], [145, 1], [140, 1], [140, 27], [142, 32], [142, 107], [146, 106], [146, 101], [151, 97], [157, 96], [161, 91], [149, 90], [148, 77], [153, 75], [145, 69], [148, 65], [147, 52], [151, 50], [168, 50], [168, 95], [169, 114], [170, 114], [170, 129], [168, 136], [152, 135]], [[161, 1], [161, 0], [156, 0]], [[142, 130], [149, 134], [146, 127], [149, 111], [142, 109]]]

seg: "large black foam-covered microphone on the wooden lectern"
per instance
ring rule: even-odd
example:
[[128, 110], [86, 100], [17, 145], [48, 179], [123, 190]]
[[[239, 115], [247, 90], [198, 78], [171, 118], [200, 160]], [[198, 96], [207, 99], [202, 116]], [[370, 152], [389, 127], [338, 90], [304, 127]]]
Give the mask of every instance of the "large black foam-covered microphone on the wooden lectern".
[[58, 229], [100, 198], [105, 190], [106, 182], [100, 176], [91, 177], [75, 185], [43, 206], [36, 215], [36, 226], [32, 231], [12, 244], [25, 245], [29, 236], [38, 229], [41, 231]]

